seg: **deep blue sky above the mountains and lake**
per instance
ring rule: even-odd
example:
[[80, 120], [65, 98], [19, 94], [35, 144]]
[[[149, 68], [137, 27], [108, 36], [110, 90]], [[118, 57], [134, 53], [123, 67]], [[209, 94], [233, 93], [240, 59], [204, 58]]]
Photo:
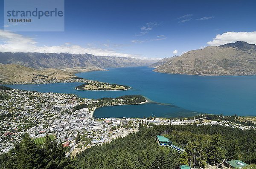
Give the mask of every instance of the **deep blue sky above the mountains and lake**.
[[[251, 32], [244, 38], [254, 43], [251, 37], [255, 38], [256, 31], [255, 6], [255, 0], [65, 0], [64, 32], [13, 33], [32, 38], [36, 46], [76, 45], [93, 54], [172, 57], [218, 45], [207, 42], [225, 32], [234, 32], [231, 39], [221, 37], [227, 42], [243, 40], [239, 32]], [[3, 12], [1, 0], [0, 30], [4, 26]], [[1, 37], [7, 37], [3, 34], [2, 31], [0, 44]]]

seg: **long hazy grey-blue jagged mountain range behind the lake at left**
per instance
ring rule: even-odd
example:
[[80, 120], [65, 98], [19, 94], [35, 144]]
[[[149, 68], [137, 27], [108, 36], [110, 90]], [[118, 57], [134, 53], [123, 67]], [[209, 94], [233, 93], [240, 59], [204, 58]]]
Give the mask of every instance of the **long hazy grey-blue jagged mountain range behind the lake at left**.
[[0, 63], [14, 63], [32, 68], [108, 68], [148, 66], [154, 61], [131, 57], [94, 56], [92, 54], [0, 52]]

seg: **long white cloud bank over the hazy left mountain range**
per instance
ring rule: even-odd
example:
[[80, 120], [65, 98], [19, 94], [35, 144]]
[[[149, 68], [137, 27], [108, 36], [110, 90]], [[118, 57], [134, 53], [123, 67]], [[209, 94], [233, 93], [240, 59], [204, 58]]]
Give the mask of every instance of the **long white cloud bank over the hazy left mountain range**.
[[35, 39], [25, 37], [14, 32], [0, 29], [0, 52], [39, 52], [39, 53], [70, 53], [70, 54], [94, 54], [99, 56], [118, 56], [145, 58], [137, 54], [119, 53], [109, 49], [83, 48], [79, 45], [37, 46]]

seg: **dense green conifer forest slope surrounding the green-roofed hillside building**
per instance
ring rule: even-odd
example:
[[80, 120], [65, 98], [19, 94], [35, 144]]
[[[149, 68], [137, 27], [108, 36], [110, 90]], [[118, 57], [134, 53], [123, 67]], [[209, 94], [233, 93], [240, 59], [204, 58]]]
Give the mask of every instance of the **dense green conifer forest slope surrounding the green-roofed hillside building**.
[[[75, 166], [86, 169], [176, 169], [179, 165], [188, 165], [194, 159], [194, 165], [202, 168], [207, 163], [221, 163], [225, 158], [240, 159], [246, 163], [256, 162], [256, 134], [252, 131], [226, 126], [195, 125], [154, 126], [144, 129], [143, 124], [140, 129], [141, 132], [118, 138], [109, 144], [86, 149], [76, 156]], [[164, 135], [175, 144], [183, 145], [186, 153], [178, 154], [158, 146], [156, 135]], [[237, 138], [241, 135], [244, 136]]]

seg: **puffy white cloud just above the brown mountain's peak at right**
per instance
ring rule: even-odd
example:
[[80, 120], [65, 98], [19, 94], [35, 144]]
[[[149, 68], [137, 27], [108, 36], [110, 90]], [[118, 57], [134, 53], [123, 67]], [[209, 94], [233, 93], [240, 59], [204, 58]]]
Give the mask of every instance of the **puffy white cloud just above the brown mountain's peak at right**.
[[256, 31], [255, 32], [225, 32], [217, 34], [216, 37], [207, 42], [210, 46], [219, 46], [226, 43], [234, 43], [236, 41], [245, 41], [250, 44], [256, 44]]

